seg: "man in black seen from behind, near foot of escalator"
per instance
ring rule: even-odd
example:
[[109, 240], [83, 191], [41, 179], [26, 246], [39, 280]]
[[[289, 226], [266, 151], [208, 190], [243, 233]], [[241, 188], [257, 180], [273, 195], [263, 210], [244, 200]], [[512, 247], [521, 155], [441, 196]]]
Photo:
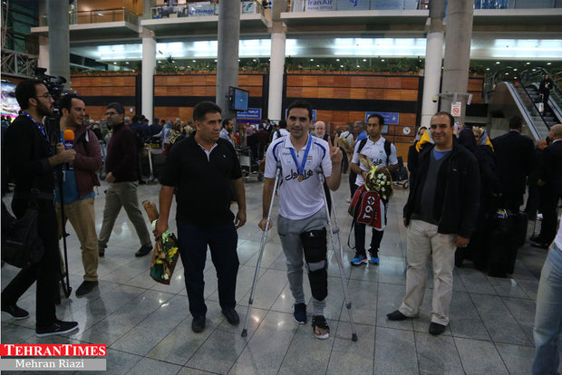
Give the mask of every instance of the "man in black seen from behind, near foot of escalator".
[[492, 145], [501, 184], [502, 203], [513, 213], [519, 212], [525, 194], [525, 182], [535, 167], [533, 141], [521, 135], [523, 120], [514, 116], [509, 120], [509, 131], [495, 139]]

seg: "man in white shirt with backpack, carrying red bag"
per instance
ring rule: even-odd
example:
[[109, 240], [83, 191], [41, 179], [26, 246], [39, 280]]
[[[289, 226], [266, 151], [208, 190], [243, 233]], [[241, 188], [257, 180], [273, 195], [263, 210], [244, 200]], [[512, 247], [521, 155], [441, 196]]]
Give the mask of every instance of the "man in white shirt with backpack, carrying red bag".
[[[396, 157], [396, 147], [383, 138], [381, 131], [383, 130], [384, 118], [378, 113], [373, 113], [367, 120], [367, 133], [369, 138], [363, 139], [355, 144], [354, 158], [352, 159], [351, 168], [357, 174], [355, 185], [363, 186], [364, 178], [367, 176], [369, 169], [359, 162], [359, 154], [369, 158], [374, 166], [386, 167], [392, 173], [398, 169], [398, 158]], [[384, 223], [386, 224], [386, 207], [388, 201], [384, 202]], [[360, 265], [367, 264], [367, 253], [365, 251], [365, 224], [357, 223], [354, 217], [354, 236], [355, 236], [355, 256], [351, 260], [351, 264]], [[379, 264], [379, 246], [383, 240], [384, 229], [378, 230], [373, 227], [373, 236], [371, 237], [371, 246], [369, 248], [369, 263]]]

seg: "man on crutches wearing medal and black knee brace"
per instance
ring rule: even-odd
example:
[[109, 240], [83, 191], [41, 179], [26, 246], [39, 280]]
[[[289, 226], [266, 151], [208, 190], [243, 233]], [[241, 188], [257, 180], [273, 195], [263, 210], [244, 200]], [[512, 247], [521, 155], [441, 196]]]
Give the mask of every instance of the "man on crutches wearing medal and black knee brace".
[[[293, 101], [287, 109], [290, 135], [276, 139], [266, 154], [263, 192], [263, 218], [259, 223], [266, 230], [269, 204], [273, 195], [276, 165], [281, 164], [279, 184], [279, 216], [277, 232], [286, 255], [287, 277], [295, 298], [295, 321], [306, 322], [305, 291], [303, 289], [303, 255], [312, 292], [312, 327], [316, 338], [330, 337], [325, 320], [325, 298], [328, 295], [326, 259], [326, 211], [317, 168], [324, 171], [331, 190], [340, 186], [342, 151], [334, 144], [308, 134], [312, 106], [307, 101]], [[329, 197], [327, 197], [329, 199]], [[271, 224], [270, 224], [271, 227]]]

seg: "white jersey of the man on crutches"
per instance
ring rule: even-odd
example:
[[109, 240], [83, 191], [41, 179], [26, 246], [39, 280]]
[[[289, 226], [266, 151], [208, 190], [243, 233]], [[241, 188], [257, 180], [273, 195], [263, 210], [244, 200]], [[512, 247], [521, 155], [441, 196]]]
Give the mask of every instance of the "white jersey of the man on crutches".
[[[266, 154], [266, 178], [276, 177], [276, 164], [281, 161], [281, 180], [279, 184], [279, 215], [292, 220], [303, 219], [315, 215], [324, 208], [323, 187], [316, 168], [322, 166], [325, 177], [332, 176], [332, 160], [328, 142], [308, 135], [312, 139], [306, 157], [304, 179], [298, 181], [298, 168], [291, 156], [294, 149], [291, 137], [281, 137], [271, 142]], [[306, 146], [295, 151], [300, 167], [305, 156]]]

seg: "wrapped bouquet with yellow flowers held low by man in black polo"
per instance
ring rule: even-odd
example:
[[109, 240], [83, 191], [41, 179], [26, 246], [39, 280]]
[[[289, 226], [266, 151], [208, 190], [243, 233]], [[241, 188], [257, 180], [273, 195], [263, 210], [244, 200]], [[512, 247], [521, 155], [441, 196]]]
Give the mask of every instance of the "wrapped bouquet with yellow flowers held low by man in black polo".
[[[159, 216], [158, 209], [155, 204], [148, 200], [142, 202], [142, 206], [146, 210], [152, 223], [152, 230], [154, 230]], [[156, 241], [150, 262], [150, 277], [155, 282], [170, 284], [171, 275], [174, 273], [176, 263], [178, 263], [179, 252], [177, 244], [178, 240], [173, 233], [170, 233], [170, 229], [167, 229]]]

